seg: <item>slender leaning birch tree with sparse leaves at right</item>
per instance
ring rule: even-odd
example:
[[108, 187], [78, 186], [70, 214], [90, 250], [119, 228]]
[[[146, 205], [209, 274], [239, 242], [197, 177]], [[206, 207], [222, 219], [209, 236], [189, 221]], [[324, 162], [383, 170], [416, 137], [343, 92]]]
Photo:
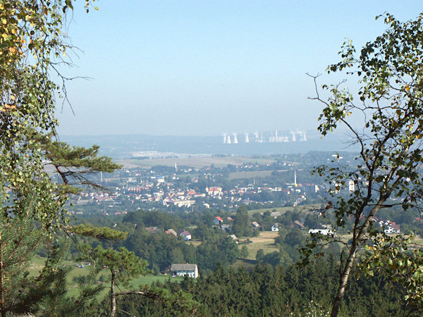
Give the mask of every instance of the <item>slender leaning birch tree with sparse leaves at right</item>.
[[[358, 53], [352, 42], [346, 41], [340, 53], [342, 61], [328, 67], [328, 73], [341, 72], [358, 81], [357, 91], [343, 88], [345, 80], [336, 85], [323, 85], [324, 92], [316, 85], [317, 97], [312, 98], [324, 106], [319, 116], [321, 135], [342, 126], [349, 130], [351, 143], [360, 148], [360, 156], [353, 166], [344, 166], [336, 158], [333, 160], [336, 164], [314, 170], [326, 178], [330, 187], [324, 212], [333, 213], [340, 228], [349, 218], [353, 219], [353, 239], [343, 261], [332, 316], [337, 316], [341, 307], [360, 248], [372, 240], [376, 245], [372, 252], [377, 253], [384, 251], [386, 243], [391, 243], [378, 230], [373, 230], [376, 214], [391, 206], [400, 206], [404, 211], [419, 209], [423, 197], [420, 173], [423, 162], [423, 14], [404, 23], [390, 14], [378, 18], [384, 18], [387, 26], [382, 35], [367, 42]], [[316, 80], [314, 77], [314, 82]], [[327, 99], [321, 97], [326, 93]], [[357, 126], [360, 120], [362, 125]], [[348, 189], [350, 180], [355, 183], [355, 190], [345, 196], [342, 189]], [[314, 235], [302, 250], [305, 262], [319, 256], [319, 246], [338, 240], [333, 235], [321, 238]], [[396, 251], [392, 251], [391, 258], [394, 258]], [[375, 263], [376, 268], [381, 268], [381, 261]], [[422, 268], [416, 261], [410, 270], [419, 272]], [[422, 285], [423, 275], [413, 273], [411, 280], [415, 285]], [[422, 294], [421, 287], [412, 287], [410, 292]], [[422, 297], [408, 298], [421, 300]]]

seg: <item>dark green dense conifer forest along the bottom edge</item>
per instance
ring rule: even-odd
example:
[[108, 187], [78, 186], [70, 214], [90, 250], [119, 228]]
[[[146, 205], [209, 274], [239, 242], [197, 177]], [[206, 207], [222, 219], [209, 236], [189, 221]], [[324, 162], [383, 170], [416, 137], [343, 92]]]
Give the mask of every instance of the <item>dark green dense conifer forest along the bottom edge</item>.
[[[196, 316], [323, 316], [330, 311], [338, 285], [338, 264], [333, 257], [319, 259], [312, 266], [256, 266], [250, 273], [223, 266], [196, 281], [157, 283], [169, 292], [180, 290], [199, 303]], [[405, 293], [384, 275], [353, 279], [341, 307], [342, 316], [419, 316], [405, 306]], [[136, 316], [172, 316], [166, 306], [148, 299], [130, 306]], [[124, 309], [125, 310], [125, 309]], [[159, 312], [156, 315], [154, 312]], [[162, 315], [163, 314], [163, 315]], [[121, 315], [123, 316], [123, 315]]]

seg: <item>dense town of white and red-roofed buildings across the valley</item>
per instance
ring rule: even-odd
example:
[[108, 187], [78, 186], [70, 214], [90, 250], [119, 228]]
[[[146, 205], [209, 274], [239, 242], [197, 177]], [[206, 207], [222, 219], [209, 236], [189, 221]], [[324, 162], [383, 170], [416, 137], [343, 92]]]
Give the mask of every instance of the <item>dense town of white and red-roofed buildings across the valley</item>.
[[[213, 202], [213, 199], [225, 199], [225, 204], [233, 208], [233, 205], [250, 204], [251, 202], [266, 202], [250, 200], [251, 194], [262, 192], [283, 192], [293, 197], [293, 204], [296, 206], [306, 200], [307, 192], [317, 192], [319, 187], [314, 184], [286, 184], [283, 187], [257, 186], [255, 184], [246, 187], [235, 187], [233, 189], [223, 190], [219, 186], [205, 187], [200, 190], [197, 187], [199, 178], [191, 178], [192, 187], [181, 189], [177, 187], [178, 177], [175, 175], [163, 177], [151, 175], [141, 179], [133, 170], [124, 170], [128, 175], [126, 185], [115, 187], [114, 192], [87, 192], [82, 193], [75, 203], [84, 205], [89, 203], [110, 202], [111, 205], [118, 204], [120, 201], [131, 201], [132, 203], [154, 203], [161, 206], [176, 206], [190, 208], [198, 203], [200, 199], [202, 205], [210, 208], [210, 205], [219, 204]], [[134, 174], [135, 173], [135, 174]], [[188, 184], [189, 185], [189, 184]], [[294, 195], [292, 195], [294, 194]], [[207, 200], [207, 202], [204, 202]], [[228, 203], [228, 201], [230, 201]], [[220, 202], [221, 204], [221, 202]], [[113, 207], [113, 206], [111, 206]]]

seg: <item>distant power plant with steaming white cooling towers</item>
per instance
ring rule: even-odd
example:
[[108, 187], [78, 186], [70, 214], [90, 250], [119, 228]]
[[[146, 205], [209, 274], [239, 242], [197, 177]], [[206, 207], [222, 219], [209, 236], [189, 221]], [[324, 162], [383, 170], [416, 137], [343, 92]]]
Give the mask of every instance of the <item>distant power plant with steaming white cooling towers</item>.
[[[260, 131], [252, 133], [252, 139], [250, 139], [250, 134], [244, 132], [244, 139], [240, 143], [250, 143], [250, 142], [304, 142], [307, 141], [307, 132], [305, 130], [290, 130], [288, 133], [281, 133], [281, 130], [271, 130], [271, 131]], [[287, 132], [287, 131], [286, 131]], [[238, 134], [232, 133], [233, 139], [231, 140], [231, 134], [223, 133], [223, 144], [238, 144]], [[243, 141], [243, 142], [242, 142]]]

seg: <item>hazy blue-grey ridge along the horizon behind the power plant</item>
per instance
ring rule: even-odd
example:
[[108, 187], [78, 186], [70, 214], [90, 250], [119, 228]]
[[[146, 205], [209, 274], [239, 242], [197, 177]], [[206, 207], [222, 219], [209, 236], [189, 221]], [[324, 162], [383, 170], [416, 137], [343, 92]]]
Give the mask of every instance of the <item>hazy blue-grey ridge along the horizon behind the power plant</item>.
[[[239, 137], [239, 139], [241, 139]], [[174, 154], [185, 155], [264, 155], [295, 154], [309, 151], [355, 151], [348, 147], [344, 134], [328, 135], [321, 138], [317, 132], [307, 132], [307, 141], [297, 142], [240, 142], [223, 144], [223, 136], [154, 136], [154, 135], [87, 135], [61, 136], [61, 141], [89, 147], [98, 144], [101, 154], [114, 159], [128, 159], [134, 156], [166, 157]]]

